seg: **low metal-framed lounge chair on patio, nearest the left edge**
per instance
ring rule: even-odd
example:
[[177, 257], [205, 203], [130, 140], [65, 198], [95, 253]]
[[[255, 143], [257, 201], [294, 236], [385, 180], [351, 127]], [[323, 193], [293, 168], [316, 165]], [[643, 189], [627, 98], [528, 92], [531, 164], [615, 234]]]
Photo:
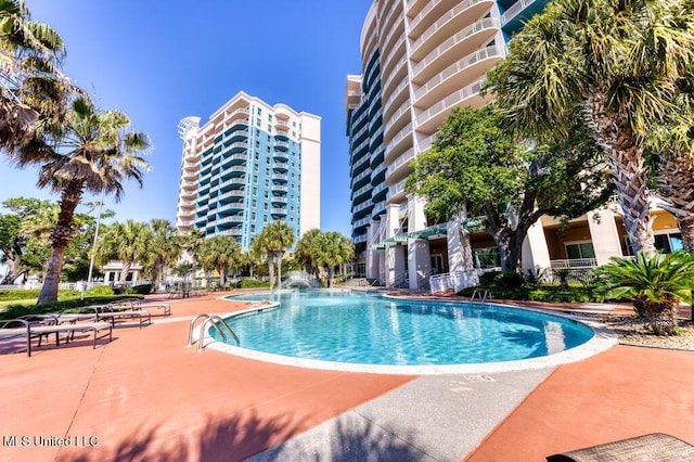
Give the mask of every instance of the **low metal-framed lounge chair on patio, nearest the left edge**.
[[[12, 324], [20, 324], [18, 328], [8, 328]], [[100, 332], [108, 331], [107, 334], [99, 336]], [[61, 324], [56, 319], [44, 318], [44, 322], [29, 321], [27, 319], [11, 319], [0, 324], [0, 339], [26, 337], [26, 356], [31, 356], [31, 338], [38, 338], [38, 346], [41, 346], [41, 338], [47, 338], [51, 334], [55, 334], [55, 346], [60, 346], [61, 333], [66, 333], [65, 343], [69, 343], [70, 337], [75, 336], [76, 332], [93, 332], [94, 344], [93, 348], [97, 348], [97, 341], [104, 338], [108, 335], [108, 342], [113, 339], [113, 325], [110, 322], [79, 322]]]

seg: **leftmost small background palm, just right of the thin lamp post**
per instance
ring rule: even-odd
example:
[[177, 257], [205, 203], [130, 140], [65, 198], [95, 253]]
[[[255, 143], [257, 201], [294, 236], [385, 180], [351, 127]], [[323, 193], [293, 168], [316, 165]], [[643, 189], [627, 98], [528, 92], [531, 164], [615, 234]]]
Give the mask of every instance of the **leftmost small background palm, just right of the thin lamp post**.
[[97, 260], [105, 265], [111, 260], [120, 260], [119, 284], [125, 285], [133, 264], [147, 265], [153, 257], [153, 234], [150, 224], [133, 220], [115, 222], [106, 228], [97, 244]]

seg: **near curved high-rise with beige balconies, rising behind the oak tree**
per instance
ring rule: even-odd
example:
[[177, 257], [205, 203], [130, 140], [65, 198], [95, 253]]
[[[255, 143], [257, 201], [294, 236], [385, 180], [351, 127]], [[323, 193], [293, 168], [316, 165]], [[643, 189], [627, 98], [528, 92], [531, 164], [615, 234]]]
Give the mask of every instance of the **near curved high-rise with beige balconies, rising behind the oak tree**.
[[[549, 0], [374, 0], [363, 24], [362, 74], [347, 76], [351, 226], [357, 272], [387, 286], [426, 286], [433, 274], [498, 265], [492, 239], [474, 218], [432, 223], [404, 190], [409, 162], [427, 151], [455, 106], [479, 107], [486, 72], [512, 35]], [[536, 223], [524, 244], [526, 268], [600, 265], [629, 254], [614, 208]], [[678, 246], [673, 220], [654, 206], [660, 241]], [[470, 246], [461, 245], [468, 240]], [[472, 248], [472, 254], [470, 251]]]

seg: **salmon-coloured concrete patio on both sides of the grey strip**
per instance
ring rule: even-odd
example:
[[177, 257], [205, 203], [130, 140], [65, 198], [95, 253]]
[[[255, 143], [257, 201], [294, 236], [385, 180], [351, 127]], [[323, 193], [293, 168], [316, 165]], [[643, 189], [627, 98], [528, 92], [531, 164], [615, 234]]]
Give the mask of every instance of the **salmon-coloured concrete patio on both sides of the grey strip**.
[[[416, 378], [185, 347], [192, 316], [245, 307], [219, 296], [164, 299], [170, 317], [121, 324], [97, 349], [85, 338], [27, 358], [22, 343], [0, 343], [0, 459], [244, 460]], [[692, 351], [614, 347], [558, 367], [461, 458], [541, 461], [653, 432], [694, 442], [693, 377]]]

